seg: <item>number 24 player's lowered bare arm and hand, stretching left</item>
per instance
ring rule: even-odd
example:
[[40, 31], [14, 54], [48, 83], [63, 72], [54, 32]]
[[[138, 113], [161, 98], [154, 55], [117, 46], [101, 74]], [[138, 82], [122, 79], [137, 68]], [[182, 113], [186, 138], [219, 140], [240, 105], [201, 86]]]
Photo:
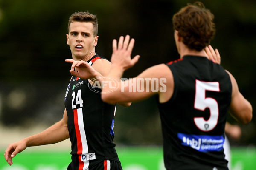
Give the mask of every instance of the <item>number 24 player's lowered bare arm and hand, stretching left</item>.
[[59, 122], [55, 123], [41, 133], [29, 136], [20, 140], [19, 142], [9, 144], [4, 153], [4, 157], [7, 163], [12, 165], [12, 158], [15, 157], [17, 153], [25, 150], [27, 147], [54, 144], [68, 138], [69, 132], [67, 129], [67, 111], [65, 109], [63, 118]]

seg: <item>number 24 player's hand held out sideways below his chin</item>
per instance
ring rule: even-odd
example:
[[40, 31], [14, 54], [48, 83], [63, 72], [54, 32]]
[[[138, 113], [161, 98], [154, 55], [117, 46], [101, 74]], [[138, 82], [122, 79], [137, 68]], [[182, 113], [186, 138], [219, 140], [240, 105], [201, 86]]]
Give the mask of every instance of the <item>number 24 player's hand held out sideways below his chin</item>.
[[81, 79], [93, 79], [96, 75], [94, 68], [85, 61], [75, 61], [73, 59], [66, 59], [65, 62], [72, 64], [70, 73], [73, 76], [80, 77]]

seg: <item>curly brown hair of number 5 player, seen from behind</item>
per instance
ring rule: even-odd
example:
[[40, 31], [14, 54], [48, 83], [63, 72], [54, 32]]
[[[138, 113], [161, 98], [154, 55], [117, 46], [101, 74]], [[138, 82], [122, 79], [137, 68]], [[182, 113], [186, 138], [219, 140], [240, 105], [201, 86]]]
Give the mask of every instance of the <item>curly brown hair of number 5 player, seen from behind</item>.
[[173, 28], [183, 38], [190, 49], [201, 51], [215, 35], [214, 15], [201, 2], [188, 4], [180, 9], [173, 18]]

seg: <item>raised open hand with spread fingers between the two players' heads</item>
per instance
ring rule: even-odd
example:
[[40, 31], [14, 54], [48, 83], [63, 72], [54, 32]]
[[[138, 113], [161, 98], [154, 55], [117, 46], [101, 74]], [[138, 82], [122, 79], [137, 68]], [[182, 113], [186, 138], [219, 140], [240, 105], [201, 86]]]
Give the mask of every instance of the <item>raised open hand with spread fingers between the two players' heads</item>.
[[125, 38], [121, 36], [117, 44], [116, 39], [113, 40], [113, 53], [111, 56], [111, 63], [113, 66], [117, 66], [122, 69], [122, 71], [127, 70], [134, 66], [138, 62], [140, 56], [136, 55], [131, 59], [131, 52], [134, 47], [135, 40], [130, 36], [126, 35]]

